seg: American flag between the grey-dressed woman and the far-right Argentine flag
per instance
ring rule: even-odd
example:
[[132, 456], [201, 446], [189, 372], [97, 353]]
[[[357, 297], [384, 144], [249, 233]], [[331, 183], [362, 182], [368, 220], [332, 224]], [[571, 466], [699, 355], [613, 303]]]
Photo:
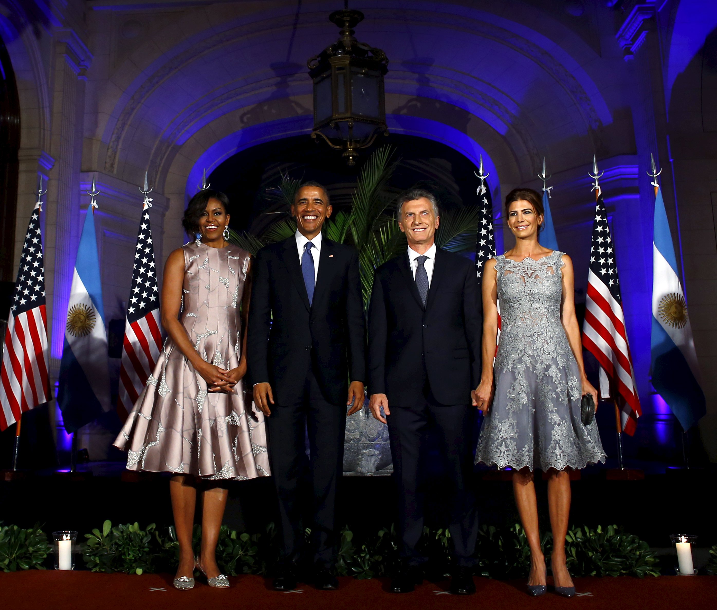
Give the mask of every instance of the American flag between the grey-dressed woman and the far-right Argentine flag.
[[620, 413], [620, 428], [632, 436], [642, 410], [627, 344], [614, 242], [599, 186], [596, 201], [582, 343], [599, 362], [602, 398], [612, 395]]

